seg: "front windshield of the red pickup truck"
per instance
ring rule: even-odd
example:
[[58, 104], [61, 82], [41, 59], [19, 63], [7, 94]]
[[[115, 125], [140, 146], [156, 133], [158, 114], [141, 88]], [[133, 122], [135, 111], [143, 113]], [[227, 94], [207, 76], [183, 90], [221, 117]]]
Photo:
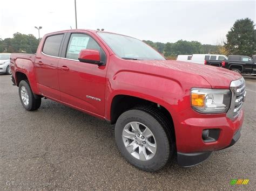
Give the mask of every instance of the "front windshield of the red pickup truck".
[[106, 32], [98, 32], [98, 34], [120, 58], [129, 60], [165, 60], [157, 51], [138, 39]]

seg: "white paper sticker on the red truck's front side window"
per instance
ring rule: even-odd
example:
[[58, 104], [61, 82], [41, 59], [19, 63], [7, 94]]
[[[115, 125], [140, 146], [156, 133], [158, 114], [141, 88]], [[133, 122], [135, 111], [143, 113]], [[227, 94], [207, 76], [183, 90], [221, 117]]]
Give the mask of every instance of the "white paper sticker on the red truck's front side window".
[[81, 49], [86, 49], [90, 37], [73, 37], [68, 53], [79, 54]]

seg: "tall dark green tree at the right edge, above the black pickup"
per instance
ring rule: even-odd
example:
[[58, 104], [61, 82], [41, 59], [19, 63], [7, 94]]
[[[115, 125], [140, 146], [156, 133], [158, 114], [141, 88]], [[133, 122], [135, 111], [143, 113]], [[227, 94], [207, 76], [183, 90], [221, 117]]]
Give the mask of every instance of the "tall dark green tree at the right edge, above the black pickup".
[[251, 56], [255, 52], [256, 30], [253, 20], [239, 19], [228, 31], [225, 49], [229, 54]]

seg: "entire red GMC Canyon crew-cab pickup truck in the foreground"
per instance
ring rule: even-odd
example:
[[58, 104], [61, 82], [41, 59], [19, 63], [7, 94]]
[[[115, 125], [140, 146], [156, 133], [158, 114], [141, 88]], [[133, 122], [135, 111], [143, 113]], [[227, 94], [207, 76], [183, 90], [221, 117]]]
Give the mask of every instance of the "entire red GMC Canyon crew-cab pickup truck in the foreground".
[[45, 97], [116, 124], [120, 152], [145, 171], [176, 154], [179, 165], [197, 165], [240, 138], [240, 74], [166, 60], [138, 39], [59, 31], [43, 37], [36, 55], [14, 53], [10, 60], [26, 110]]

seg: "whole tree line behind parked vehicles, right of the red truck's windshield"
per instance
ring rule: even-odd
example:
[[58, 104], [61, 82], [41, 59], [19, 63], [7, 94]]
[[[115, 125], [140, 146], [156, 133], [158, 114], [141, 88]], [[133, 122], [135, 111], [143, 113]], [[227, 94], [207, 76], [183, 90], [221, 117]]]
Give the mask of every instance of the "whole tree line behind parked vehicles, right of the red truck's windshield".
[[226, 34], [226, 40], [217, 43], [217, 45], [186, 40], [178, 40], [176, 43], [143, 41], [167, 58], [172, 58], [179, 54], [235, 54], [247, 56], [256, 54], [255, 24], [249, 18], [238, 19]]

